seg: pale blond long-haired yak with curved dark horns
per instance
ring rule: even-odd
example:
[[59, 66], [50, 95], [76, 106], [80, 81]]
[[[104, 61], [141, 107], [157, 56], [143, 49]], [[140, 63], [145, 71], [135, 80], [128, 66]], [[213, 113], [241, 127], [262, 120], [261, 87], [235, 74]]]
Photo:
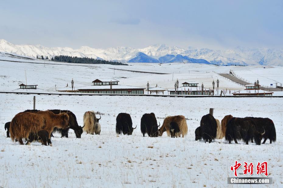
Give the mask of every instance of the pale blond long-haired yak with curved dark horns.
[[100, 135], [101, 126], [99, 123], [99, 120], [101, 119], [101, 116], [99, 119], [96, 118], [94, 111], [87, 111], [83, 115], [83, 130], [86, 132], [86, 134], [90, 133], [93, 135], [94, 133], [96, 135]]

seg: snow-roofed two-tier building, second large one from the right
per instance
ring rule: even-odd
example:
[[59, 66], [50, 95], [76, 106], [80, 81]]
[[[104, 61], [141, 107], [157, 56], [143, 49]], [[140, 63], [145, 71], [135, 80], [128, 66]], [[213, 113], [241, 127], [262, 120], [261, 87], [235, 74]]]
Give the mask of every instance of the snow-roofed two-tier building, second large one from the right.
[[177, 84], [175, 83], [175, 88], [168, 90], [170, 95], [214, 95], [213, 90], [207, 89], [197, 85], [196, 82], [184, 82], [182, 87], [178, 87], [178, 80]]

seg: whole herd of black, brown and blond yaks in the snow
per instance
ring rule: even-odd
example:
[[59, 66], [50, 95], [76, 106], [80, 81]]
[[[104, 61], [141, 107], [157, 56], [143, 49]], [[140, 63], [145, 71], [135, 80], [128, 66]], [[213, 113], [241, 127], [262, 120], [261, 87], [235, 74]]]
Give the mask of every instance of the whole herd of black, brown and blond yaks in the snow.
[[[83, 126], [79, 126], [74, 113], [66, 110], [26, 110], [15, 115], [12, 121], [5, 124], [7, 137], [11, 136], [12, 141], [19, 141], [23, 145], [23, 138], [26, 144], [34, 140], [40, 141], [42, 145], [51, 145], [53, 132], [60, 132], [61, 137], [68, 138], [69, 129], [73, 129], [77, 138], [81, 138], [85, 131], [87, 134], [100, 135], [101, 125], [100, 118], [96, 118], [94, 111], [87, 111], [83, 116]], [[137, 128], [137, 126], [135, 127]], [[116, 133], [132, 135], [134, 129], [131, 116], [127, 113], [120, 113], [116, 118]], [[141, 118], [141, 132], [149, 137], [162, 136], [164, 132], [167, 136], [184, 137], [187, 135], [188, 127], [183, 115], [167, 116], [162, 126], [157, 124], [154, 113], [144, 114]], [[203, 139], [205, 142], [212, 142], [214, 139], [226, 141], [243, 140], [246, 144], [249, 141], [260, 145], [264, 138], [263, 144], [267, 138], [270, 143], [276, 141], [276, 131], [274, 123], [269, 118], [235, 118], [232, 115], [226, 115], [221, 123], [212, 115], [207, 114], [201, 118], [201, 124], [195, 130], [195, 140]]]

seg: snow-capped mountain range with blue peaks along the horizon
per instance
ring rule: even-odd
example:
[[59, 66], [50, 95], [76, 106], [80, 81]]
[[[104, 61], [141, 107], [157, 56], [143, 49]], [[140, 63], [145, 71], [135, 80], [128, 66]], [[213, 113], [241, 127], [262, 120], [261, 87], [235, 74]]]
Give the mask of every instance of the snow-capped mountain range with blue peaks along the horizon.
[[14, 53], [22, 56], [43, 55], [51, 58], [56, 55], [89, 57], [129, 63], [205, 63], [218, 65], [274, 65], [283, 66], [283, 49], [243, 48], [230, 50], [179, 48], [166, 44], [155, 44], [138, 49], [131, 47], [111, 47], [107, 49], [81, 46], [79, 49], [69, 47], [44, 47], [41, 45], [16, 45], [0, 39], [0, 52]]

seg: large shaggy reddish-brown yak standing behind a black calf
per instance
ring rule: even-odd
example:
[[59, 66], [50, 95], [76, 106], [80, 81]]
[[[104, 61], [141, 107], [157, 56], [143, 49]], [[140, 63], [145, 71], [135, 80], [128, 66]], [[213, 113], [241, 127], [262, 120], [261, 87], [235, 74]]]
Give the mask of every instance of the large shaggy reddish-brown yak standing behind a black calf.
[[54, 129], [68, 128], [69, 116], [67, 113], [54, 114], [51, 111], [38, 112], [20, 112], [15, 115], [10, 125], [10, 135], [12, 141], [19, 140], [23, 145], [22, 138], [29, 138], [31, 133], [37, 133], [40, 130], [46, 130], [50, 135]]

